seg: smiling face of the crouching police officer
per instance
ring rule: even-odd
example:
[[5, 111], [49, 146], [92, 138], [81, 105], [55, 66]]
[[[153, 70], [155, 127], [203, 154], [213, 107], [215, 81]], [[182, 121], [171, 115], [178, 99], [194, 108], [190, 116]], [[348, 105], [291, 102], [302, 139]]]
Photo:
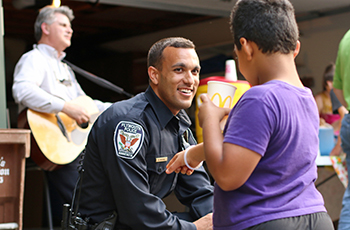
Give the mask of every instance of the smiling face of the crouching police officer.
[[199, 59], [192, 48], [167, 47], [161, 70], [155, 69], [152, 88], [173, 114], [191, 106], [199, 84]]

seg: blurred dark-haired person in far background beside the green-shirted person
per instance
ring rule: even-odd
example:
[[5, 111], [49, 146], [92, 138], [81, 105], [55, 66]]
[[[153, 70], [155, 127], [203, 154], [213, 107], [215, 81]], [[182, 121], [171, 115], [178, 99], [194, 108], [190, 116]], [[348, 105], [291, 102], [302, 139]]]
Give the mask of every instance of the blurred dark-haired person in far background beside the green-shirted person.
[[335, 134], [338, 135], [341, 126], [340, 114], [337, 111], [333, 113], [330, 96], [333, 89], [334, 70], [334, 63], [327, 65], [323, 74], [323, 91], [315, 96], [315, 100], [320, 114], [320, 125], [325, 125], [325, 123], [332, 125]]

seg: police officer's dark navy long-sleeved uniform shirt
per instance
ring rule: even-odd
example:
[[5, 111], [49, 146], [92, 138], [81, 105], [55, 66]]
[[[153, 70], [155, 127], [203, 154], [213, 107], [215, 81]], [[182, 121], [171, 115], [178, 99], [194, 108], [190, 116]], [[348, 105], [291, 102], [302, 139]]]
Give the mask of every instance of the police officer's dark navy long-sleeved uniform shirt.
[[[191, 222], [213, 207], [207, 173], [203, 167], [191, 176], [165, 173], [177, 152], [196, 143], [190, 124], [185, 111], [174, 116], [151, 87], [113, 104], [89, 135], [80, 213], [96, 223], [116, 210], [118, 225], [131, 229], [196, 229]], [[181, 219], [161, 200], [172, 191], [189, 207]]]

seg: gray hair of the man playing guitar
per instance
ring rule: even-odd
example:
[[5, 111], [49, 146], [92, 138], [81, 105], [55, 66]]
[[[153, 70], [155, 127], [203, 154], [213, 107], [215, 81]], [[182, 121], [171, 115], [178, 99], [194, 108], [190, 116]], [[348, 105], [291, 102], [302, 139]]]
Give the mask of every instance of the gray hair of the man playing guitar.
[[74, 19], [73, 11], [68, 6], [60, 6], [58, 8], [53, 6], [43, 7], [34, 23], [34, 37], [37, 42], [41, 39], [42, 35], [41, 24], [45, 22], [51, 25], [56, 20], [55, 13], [66, 15], [70, 22]]

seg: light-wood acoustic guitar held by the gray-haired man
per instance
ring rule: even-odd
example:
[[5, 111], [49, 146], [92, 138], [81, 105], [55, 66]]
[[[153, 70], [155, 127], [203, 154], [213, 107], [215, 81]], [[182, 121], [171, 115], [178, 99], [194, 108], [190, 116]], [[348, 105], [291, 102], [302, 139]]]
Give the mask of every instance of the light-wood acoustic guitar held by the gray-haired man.
[[41, 113], [26, 109], [18, 117], [19, 128], [32, 131], [32, 160], [42, 169], [53, 171], [74, 161], [84, 150], [93, 122], [99, 115], [94, 101], [80, 96], [71, 101], [83, 105], [90, 115], [85, 126], [79, 126], [66, 114]]

